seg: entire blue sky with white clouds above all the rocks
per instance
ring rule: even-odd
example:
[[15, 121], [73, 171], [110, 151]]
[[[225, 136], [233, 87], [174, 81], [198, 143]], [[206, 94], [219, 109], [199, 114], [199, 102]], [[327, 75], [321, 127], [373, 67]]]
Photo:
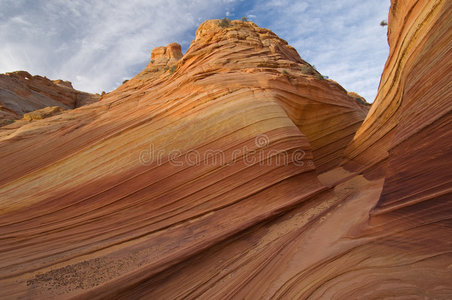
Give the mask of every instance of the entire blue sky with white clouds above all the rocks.
[[204, 20], [266, 27], [324, 75], [373, 101], [388, 55], [390, 0], [0, 0], [0, 73], [26, 70], [111, 91], [154, 47], [186, 51]]

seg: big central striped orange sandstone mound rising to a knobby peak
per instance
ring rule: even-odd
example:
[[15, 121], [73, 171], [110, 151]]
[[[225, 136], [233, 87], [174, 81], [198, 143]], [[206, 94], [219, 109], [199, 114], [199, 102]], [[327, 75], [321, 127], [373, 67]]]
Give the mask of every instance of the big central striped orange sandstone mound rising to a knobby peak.
[[5, 293], [111, 292], [324, 193], [315, 163], [339, 162], [366, 106], [252, 23], [208, 21], [179, 49], [0, 136]]

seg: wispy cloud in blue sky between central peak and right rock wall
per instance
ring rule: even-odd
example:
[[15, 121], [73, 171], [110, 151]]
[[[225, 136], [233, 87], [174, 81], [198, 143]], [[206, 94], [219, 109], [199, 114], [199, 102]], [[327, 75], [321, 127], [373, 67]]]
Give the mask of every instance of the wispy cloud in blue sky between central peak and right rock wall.
[[373, 101], [389, 51], [379, 26], [389, 6], [389, 0], [274, 0], [257, 2], [249, 13], [322, 74]]

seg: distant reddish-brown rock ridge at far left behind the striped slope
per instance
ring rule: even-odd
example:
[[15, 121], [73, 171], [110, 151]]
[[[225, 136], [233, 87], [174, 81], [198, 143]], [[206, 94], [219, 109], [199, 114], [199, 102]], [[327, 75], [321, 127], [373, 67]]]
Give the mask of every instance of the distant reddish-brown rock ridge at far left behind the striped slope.
[[25, 71], [0, 74], [0, 126], [45, 107], [73, 109], [99, 98], [99, 95], [75, 90], [69, 81], [52, 81]]

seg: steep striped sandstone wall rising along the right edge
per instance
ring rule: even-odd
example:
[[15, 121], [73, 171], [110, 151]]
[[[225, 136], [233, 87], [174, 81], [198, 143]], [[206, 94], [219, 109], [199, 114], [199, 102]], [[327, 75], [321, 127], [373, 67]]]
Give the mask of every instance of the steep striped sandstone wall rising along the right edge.
[[347, 149], [355, 168], [382, 169], [386, 175], [374, 216], [394, 214], [425, 224], [452, 212], [451, 6], [392, 4], [391, 51], [379, 93]]

